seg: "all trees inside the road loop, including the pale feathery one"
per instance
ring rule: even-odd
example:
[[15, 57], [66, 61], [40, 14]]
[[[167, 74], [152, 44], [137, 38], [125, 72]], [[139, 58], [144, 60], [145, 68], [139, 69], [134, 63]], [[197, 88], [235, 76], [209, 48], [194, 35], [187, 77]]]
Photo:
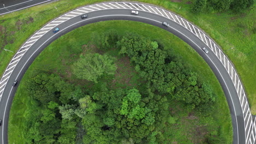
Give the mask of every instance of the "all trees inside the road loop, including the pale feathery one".
[[178, 61], [170, 47], [137, 34], [121, 38], [113, 30], [98, 38], [101, 46], [117, 47], [120, 55], [130, 57], [143, 85], [101, 85], [117, 67], [114, 58], [98, 53], [80, 56], [72, 68], [78, 79], [101, 85], [96, 89], [39, 73], [25, 84], [30, 98], [24, 114], [26, 143], [162, 143], [167, 137], [157, 128], [163, 119], [173, 123], [168, 100], [211, 114], [212, 88]]

